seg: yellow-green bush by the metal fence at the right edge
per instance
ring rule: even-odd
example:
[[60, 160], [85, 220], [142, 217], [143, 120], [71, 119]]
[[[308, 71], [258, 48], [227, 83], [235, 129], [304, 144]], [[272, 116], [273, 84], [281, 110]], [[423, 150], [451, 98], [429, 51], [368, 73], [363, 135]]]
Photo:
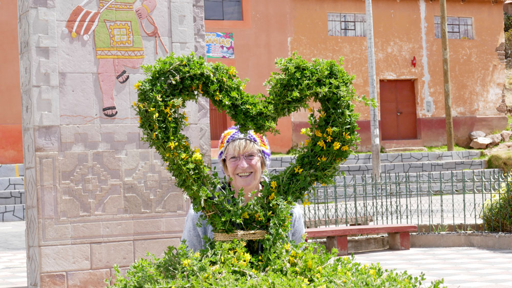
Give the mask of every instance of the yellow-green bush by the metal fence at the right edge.
[[501, 185], [498, 194], [494, 194], [483, 204], [482, 215], [485, 230], [490, 232], [512, 232], [512, 177]]

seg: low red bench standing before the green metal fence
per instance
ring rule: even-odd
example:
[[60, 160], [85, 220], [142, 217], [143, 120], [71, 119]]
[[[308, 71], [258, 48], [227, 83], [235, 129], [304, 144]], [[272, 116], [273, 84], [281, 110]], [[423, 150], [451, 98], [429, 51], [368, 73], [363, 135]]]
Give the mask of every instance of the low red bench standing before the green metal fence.
[[388, 233], [390, 249], [409, 250], [411, 248], [409, 232], [416, 231], [418, 231], [416, 225], [389, 224], [309, 228], [306, 229], [306, 234], [308, 238], [327, 238], [327, 250], [336, 248], [338, 256], [343, 256], [348, 254], [348, 235]]

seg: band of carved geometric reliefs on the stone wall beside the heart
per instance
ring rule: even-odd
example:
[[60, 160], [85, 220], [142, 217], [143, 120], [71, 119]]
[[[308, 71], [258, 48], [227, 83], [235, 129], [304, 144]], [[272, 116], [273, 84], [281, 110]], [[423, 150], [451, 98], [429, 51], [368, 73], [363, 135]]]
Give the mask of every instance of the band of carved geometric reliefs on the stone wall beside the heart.
[[[43, 159], [50, 154], [58, 157], [58, 153], [38, 156]], [[57, 161], [60, 181], [52, 201], [57, 207], [43, 206], [55, 211], [57, 220], [185, 212], [188, 208], [154, 150], [131, 150], [126, 156], [116, 156], [115, 151], [77, 151], [65, 156]]]

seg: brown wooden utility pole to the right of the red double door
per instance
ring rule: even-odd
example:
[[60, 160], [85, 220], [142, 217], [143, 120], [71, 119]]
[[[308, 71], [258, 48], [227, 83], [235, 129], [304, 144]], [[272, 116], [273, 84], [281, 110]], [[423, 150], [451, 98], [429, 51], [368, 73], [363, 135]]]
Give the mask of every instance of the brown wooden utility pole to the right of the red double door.
[[441, 6], [441, 44], [443, 50], [443, 79], [444, 79], [444, 114], [446, 122], [446, 146], [453, 151], [453, 118], [452, 96], [450, 94], [450, 56], [448, 53], [448, 32], [446, 25], [446, 0], [440, 0]]

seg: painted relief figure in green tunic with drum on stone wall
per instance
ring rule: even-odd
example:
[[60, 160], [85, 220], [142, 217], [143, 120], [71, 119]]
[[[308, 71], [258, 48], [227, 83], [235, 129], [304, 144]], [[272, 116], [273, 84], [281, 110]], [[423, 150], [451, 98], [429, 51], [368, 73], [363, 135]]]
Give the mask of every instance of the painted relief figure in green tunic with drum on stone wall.
[[[97, 0], [97, 11], [84, 8], [92, 0], [85, 0], [71, 12], [66, 29], [72, 38], [89, 40], [94, 33], [94, 49], [98, 59], [98, 80], [102, 93], [101, 113], [113, 118], [118, 114], [114, 88], [116, 83], [125, 84], [130, 75], [126, 68], [139, 69], [144, 60], [142, 33], [155, 37], [156, 53], [160, 40], [168, 53], [155, 20], [151, 13], [157, 6], [156, 0]], [[136, 5], [140, 2], [140, 6]], [[152, 26], [151, 31], [144, 27]]]

